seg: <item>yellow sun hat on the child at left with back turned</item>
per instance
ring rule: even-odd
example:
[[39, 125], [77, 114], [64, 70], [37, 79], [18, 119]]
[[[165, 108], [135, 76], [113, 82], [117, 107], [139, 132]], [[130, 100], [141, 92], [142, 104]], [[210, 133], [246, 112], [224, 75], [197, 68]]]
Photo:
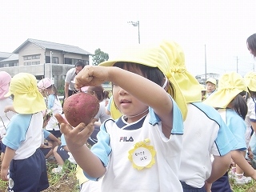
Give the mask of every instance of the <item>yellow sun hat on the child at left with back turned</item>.
[[38, 91], [37, 80], [33, 74], [15, 74], [5, 96], [9, 97], [11, 94], [14, 95], [14, 110], [19, 114], [35, 114], [46, 110], [46, 102]]

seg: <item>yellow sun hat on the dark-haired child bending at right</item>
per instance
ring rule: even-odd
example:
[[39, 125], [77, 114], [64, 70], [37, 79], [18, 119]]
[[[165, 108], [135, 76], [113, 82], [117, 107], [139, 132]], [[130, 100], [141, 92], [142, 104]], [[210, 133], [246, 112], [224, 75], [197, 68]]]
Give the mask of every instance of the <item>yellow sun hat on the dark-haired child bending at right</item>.
[[244, 78], [236, 72], [226, 73], [218, 80], [218, 90], [206, 98], [204, 103], [225, 109], [242, 91], [248, 92]]

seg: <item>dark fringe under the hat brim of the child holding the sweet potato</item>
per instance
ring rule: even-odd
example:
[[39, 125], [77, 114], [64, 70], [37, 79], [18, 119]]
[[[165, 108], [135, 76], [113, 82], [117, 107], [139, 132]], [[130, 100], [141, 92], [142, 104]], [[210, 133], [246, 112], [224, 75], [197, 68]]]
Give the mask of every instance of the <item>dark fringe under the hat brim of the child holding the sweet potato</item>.
[[[134, 62], [116, 62], [114, 63], [114, 66], [117, 66], [124, 70], [129, 70], [130, 72], [133, 72], [135, 74], [138, 74], [138, 71], [141, 71], [145, 78], [149, 79], [151, 82], [158, 84], [158, 86], [162, 86], [163, 79], [166, 78], [166, 76], [162, 74], [162, 71], [159, 70], [158, 67], [144, 66]], [[172, 98], [174, 98], [174, 86], [171, 82], [169, 82], [169, 85], [170, 95], [172, 96]]]

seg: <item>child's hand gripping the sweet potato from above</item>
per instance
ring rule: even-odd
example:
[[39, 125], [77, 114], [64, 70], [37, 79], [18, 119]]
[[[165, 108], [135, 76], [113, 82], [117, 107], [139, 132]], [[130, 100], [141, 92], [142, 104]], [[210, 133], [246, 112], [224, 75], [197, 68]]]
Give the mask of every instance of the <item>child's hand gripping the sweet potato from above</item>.
[[109, 67], [85, 66], [75, 77], [75, 87], [80, 89], [83, 86], [98, 86], [109, 78]]

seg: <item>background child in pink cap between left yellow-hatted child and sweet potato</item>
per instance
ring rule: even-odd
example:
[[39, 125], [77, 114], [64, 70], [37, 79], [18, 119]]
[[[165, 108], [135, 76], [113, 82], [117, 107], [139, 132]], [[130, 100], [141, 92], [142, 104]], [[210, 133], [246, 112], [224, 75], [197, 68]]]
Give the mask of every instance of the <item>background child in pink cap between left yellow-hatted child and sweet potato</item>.
[[[48, 110], [51, 110], [53, 114], [62, 114], [62, 103], [60, 102], [57, 94], [56, 87], [50, 81], [50, 78], [43, 78], [38, 82], [38, 89], [42, 93], [42, 95], [46, 99], [46, 106]], [[54, 115], [50, 118], [46, 126], [46, 130], [48, 130], [51, 134], [54, 134], [56, 138], [61, 137], [61, 132], [59, 130], [59, 125], [57, 119]], [[58, 142], [54, 142], [49, 140], [49, 145], [58, 146]]]

